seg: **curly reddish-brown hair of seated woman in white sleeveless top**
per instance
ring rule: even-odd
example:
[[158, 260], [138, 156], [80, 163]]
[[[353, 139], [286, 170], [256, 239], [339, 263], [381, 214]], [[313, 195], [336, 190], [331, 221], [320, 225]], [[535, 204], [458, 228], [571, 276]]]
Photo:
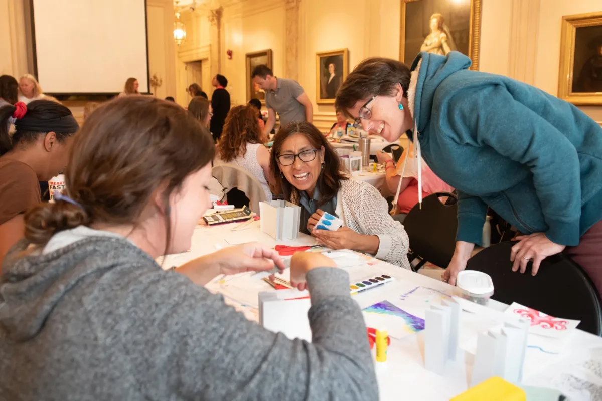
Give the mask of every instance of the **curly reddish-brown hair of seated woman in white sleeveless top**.
[[220, 159], [229, 162], [247, 153], [247, 143], [260, 144], [262, 132], [253, 106], [235, 106], [228, 112], [217, 142]]

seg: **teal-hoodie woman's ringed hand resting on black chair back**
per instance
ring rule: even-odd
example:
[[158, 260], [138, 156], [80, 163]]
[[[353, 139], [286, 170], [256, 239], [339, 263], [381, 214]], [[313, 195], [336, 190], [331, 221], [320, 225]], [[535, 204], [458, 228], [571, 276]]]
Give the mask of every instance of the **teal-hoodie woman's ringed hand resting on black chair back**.
[[549, 240], [544, 233], [521, 235], [517, 239], [519, 242], [512, 246], [512, 251], [510, 252], [510, 260], [514, 262], [514, 265], [512, 265], [513, 272], [518, 271], [520, 268], [521, 273], [524, 273], [527, 269], [527, 263], [533, 259], [531, 274], [536, 275], [542, 260], [548, 256], [560, 253], [566, 248], [565, 245], [559, 245]]

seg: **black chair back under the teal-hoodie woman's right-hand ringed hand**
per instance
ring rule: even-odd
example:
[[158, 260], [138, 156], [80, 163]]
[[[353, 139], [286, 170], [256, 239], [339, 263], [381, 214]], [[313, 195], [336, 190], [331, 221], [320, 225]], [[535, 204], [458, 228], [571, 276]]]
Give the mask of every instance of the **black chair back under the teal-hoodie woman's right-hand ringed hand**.
[[494, 295], [504, 304], [518, 302], [551, 316], [581, 320], [579, 329], [602, 335], [600, 295], [581, 266], [568, 256], [557, 254], [541, 262], [531, 275], [532, 262], [524, 274], [512, 271], [510, 248], [516, 241], [491, 245], [468, 260], [467, 270], [491, 276]]

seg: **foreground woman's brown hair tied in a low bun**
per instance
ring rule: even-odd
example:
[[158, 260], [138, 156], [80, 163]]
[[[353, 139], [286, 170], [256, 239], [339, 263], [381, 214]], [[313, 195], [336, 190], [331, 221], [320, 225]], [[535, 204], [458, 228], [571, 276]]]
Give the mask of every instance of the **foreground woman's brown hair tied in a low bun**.
[[[85, 121], [65, 172], [66, 201], [25, 215], [25, 237], [46, 243], [57, 231], [92, 223], [139, 224], [152, 195], [166, 205], [184, 179], [213, 160], [213, 138], [180, 106], [151, 96], [111, 100]], [[164, 211], [169, 233], [169, 207]]]

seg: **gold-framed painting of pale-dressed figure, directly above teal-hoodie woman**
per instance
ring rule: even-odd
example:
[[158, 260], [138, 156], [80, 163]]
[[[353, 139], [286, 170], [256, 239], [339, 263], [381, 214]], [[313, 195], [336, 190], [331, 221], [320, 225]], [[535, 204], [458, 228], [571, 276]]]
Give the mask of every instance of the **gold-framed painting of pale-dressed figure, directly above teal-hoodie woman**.
[[411, 64], [419, 52], [459, 51], [479, 69], [481, 0], [401, 0], [399, 60]]

